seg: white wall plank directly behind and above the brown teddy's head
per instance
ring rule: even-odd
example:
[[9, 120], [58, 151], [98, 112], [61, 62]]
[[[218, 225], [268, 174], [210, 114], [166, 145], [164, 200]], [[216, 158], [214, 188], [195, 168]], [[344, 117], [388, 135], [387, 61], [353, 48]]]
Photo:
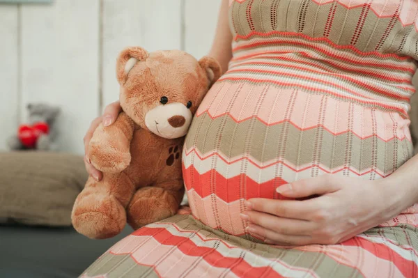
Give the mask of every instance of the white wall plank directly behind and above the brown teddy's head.
[[118, 100], [116, 58], [127, 46], [180, 49], [180, 0], [103, 0], [103, 104]]

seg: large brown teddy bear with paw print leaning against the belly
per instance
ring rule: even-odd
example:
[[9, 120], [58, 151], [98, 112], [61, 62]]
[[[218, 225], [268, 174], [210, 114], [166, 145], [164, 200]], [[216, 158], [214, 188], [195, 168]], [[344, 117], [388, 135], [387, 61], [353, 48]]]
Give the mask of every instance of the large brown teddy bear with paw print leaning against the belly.
[[123, 112], [99, 125], [90, 141], [88, 178], [72, 209], [72, 224], [88, 238], [110, 238], [176, 214], [184, 186], [180, 154], [192, 116], [220, 77], [219, 63], [179, 50], [148, 54], [130, 47], [118, 57]]

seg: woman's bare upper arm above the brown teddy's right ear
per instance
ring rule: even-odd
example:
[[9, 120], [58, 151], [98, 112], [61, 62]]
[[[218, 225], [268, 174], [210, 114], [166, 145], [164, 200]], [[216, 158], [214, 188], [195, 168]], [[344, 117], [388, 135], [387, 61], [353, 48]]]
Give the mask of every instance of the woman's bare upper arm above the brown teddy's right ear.
[[215, 38], [210, 48], [209, 56], [217, 59], [222, 66], [222, 73], [228, 70], [232, 58], [232, 33], [228, 20], [229, 0], [222, 0], [219, 8]]

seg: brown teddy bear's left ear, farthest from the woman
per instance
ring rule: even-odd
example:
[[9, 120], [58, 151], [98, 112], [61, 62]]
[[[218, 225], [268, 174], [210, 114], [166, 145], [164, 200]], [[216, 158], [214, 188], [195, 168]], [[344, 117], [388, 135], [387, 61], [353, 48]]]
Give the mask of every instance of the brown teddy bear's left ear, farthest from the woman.
[[148, 52], [142, 47], [128, 47], [123, 49], [118, 56], [116, 63], [116, 75], [119, 84], [126, 82], [127, 74], [132, 70], [138, 61], [143, 61], [148, 57]]

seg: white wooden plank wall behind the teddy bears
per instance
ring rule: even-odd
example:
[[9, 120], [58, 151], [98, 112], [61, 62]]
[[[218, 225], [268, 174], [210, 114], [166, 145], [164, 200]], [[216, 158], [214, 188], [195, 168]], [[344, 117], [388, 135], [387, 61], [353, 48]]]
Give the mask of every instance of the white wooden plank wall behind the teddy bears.
[[26, 121], [29, 102], [59, 105], [59, 144], [84, 153], [82, 138], [118, 99], [115, 63], [130, 45], [210, 48], [220, 0], [54, 0], [0, 4], [0, 150]]

